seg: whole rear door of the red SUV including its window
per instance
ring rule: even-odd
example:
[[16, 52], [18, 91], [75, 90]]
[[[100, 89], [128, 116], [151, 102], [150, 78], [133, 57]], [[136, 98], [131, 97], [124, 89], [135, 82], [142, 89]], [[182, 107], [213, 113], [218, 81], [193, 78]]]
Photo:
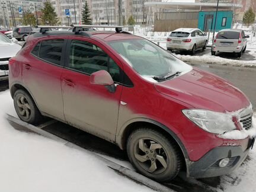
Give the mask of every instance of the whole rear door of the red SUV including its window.
[[35, 41], [33, 50], [24, 58], [22, 72], [23, 82], [39, 110], [59, 120], [65, 120], [60, 77], [66, 41], [51, 37]]

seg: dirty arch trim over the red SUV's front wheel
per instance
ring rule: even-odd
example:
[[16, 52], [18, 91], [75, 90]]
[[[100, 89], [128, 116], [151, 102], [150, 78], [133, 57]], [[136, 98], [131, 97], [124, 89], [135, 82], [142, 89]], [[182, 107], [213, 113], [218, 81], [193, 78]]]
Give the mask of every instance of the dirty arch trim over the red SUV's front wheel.
[[124, 125], [124, 129], [121, 129], [123, 131], [120, 133], [119, 139], [117, 139], [117, 144], [119, 145], [119, 147], [121, 149], [126, 149], [126, 143], [130, 133], [132, 133], [139, 127], [145, 125], [151, 127], [152, 129], [155, 129], [156, 131], [162, 133], [163, 135], [167, 135], [169, 139], [172, 139], [177, 144], [181, 154], [183, 154], [184, 160], [188, 158], [188, 153], [187, 150], [185, 149], [185, 146], [181, 142], [180, 138], [174, 132], [172, 132], [172, 130], [170, 130], [167, 126], [165, 126], [162, 123], [145, 118], [131, 120], [129, 121], [129, 123], [126, 123], [126, 125]]

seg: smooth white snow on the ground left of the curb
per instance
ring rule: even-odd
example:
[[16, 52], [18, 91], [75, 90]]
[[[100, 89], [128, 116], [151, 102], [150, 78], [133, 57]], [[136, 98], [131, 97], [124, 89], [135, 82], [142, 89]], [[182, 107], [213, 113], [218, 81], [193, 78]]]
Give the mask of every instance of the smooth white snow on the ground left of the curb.
[[90, 153], [15, 130], [5, 120], [5, 113], [15, 115], [9, 91], [0, 100], [0, 191], [151, 191]]

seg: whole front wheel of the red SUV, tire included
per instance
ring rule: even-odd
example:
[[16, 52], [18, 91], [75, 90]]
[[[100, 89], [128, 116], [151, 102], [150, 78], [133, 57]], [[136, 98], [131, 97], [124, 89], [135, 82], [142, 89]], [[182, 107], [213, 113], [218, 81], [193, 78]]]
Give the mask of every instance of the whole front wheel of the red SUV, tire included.
[[159, 182], [171, 181], [181, 169], [177, 145], [151, 128], [132, 132], [127, 140], [127, 155], [140, 174]]

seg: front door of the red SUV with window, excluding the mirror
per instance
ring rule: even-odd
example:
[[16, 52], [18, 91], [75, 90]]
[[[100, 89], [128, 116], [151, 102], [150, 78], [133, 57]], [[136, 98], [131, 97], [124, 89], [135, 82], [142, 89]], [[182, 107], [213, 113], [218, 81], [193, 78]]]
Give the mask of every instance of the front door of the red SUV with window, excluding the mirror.
[[62, 95], [66, 121], [107, 140], [114, 140], [123, 87], [117, 85], [111, 93], [103, 85], [92, 85], [93, 72], [110, 72], [114, 82], [123, 78], [121, 64], [92, 40], [69, 40], [66, 69], [62, 73]]

